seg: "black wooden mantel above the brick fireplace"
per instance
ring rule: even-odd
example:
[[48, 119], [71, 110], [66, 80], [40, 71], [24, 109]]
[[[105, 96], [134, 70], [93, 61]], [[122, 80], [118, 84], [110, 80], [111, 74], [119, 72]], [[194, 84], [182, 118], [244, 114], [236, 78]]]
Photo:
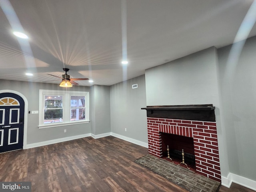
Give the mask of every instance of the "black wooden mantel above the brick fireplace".
[[147, 106], [147, 117], [215, 122], [213, 104]]

